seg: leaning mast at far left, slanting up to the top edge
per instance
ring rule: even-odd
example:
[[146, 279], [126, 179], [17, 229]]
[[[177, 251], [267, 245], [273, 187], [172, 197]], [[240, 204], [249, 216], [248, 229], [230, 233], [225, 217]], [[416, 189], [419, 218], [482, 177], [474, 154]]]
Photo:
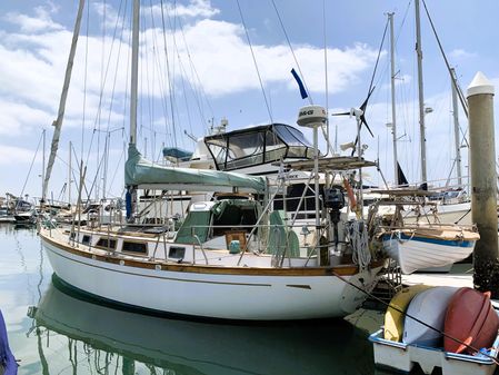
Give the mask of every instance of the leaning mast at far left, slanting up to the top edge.
[[71, 81], [71, 71], [72, 71], [72, 66], [73, 66], [73, 61], [74, 61], [74, 53], [77, 52], [77, 42], [78, 42], [78, 36], [80, 34], [81, 16], [83, 14], [83, 8], [84, 8], [84, 0], [80, 0], [80, 4], [78, 7], [77, 20], [74, 22], [71, 49], [69, 51], [69, 57], [68, 57], [68, 65], [66, 66], [64, 83], [62, 85], [62, 93], [61, 93], [61, 99], [59, 101], [59, 110], [58, 110], [57, 119], [52, 124], [54, 129], [53, 129], [53, 136], [52, 136], [52, 146], [50, 148], [49, 164], [47, 166], [47, 172], [43, 178], [43, 188], [41, 191], [42, 201], [46, 200], [47, 188], [49, 185], [50, 175], [52, 174], [53, 162], [56, 161], [56, 154], [59, 148], [59, 138], [61, 136], [62, 119], [64, 117], [64, 111], [66, 111], [66, 99], [68, 98], [69, 82]]

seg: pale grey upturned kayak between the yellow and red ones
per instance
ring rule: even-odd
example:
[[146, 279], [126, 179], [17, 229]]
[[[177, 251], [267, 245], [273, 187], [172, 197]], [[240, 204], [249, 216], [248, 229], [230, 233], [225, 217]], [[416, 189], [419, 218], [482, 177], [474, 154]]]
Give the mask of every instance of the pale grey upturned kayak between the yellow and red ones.
[[[441, 346], [443, 322], [450, 298], [458, 287], [438, 286], [419, 293], [410, 303], [403, 323], [402, 342], [422, 346]], [[415, 317], [428, 326], [415, 320]]]

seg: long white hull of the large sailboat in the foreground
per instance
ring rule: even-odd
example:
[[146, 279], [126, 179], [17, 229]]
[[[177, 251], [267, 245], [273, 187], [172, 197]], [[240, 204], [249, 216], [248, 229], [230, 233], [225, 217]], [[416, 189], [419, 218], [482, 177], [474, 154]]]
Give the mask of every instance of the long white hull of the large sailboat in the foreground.
[[[41, 234], [54, 273], [84, 293], [149, 310], [223, 319], [309, 319], [341, 317], [366, 299], [379, 268], [341, 278], [330, 274], [300, 276], [288, 269], [176, 265], [140, 267], [138, 261], [103, 257]], [[176, 270], [170, 270], [171, 268]], [[162, 269], [163, 268], [163, 269]], [[281, 268], [282, 269], [282, 268]], [[266, 272], [267, 270], [267, 272]], [[246, 274], [244, 274], [246, 273]], [[351, 283], [360, 288], [347, 284]]]

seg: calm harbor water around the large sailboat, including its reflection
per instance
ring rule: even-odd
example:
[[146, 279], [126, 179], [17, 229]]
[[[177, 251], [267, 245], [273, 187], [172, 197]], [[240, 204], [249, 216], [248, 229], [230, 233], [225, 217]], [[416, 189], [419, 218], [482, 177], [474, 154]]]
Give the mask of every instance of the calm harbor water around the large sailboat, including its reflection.
[[19, 374], [389, 374], [375, 368], [367, 339], [379, 312], [267, 325], [147, 316], [61, 287], [34, 229], [0, 225], [0, 309]]

